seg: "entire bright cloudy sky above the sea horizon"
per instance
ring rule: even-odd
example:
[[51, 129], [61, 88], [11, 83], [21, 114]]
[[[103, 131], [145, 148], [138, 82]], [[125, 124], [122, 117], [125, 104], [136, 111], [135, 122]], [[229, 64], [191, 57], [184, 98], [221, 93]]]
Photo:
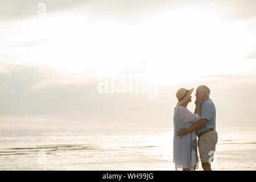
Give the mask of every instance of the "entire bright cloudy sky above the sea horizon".
[[[254, 0], [0, 0], [0, 128], [172, 127], [203, 84], [217, 127], [256, 127], [255, 22]], [[129, 77], [156, 98], [98, 90]]]

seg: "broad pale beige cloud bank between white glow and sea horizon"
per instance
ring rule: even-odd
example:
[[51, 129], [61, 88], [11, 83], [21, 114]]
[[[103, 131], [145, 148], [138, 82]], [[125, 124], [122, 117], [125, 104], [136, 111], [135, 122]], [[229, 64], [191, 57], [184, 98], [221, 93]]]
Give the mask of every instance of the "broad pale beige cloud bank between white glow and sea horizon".
[[[219, 80], [182, 82], [146, 94], [99, 94], [95, 77], [0, 62], [1, 128], [172, 127], [176, 91], [208, 85], [217, 108], [217, 127], [255, 126], [256, 76], [216, 75]], [[195, 93], [188, 109], [193, 111]], [[241, 122], [243, 121], [243, 122]]]

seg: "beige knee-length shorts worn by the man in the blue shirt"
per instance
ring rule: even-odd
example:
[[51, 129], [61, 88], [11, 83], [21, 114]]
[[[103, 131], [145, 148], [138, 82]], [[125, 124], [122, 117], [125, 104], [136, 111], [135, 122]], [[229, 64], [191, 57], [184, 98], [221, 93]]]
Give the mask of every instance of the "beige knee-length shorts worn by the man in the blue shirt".
[[[209, 131], [198, 139], [198, 148], [201, 163], [208, 163], [213, 161], [213, 152], [215, 152], [216, 144], [218, 141], [218, 133], [216, 130]], [[212, 152], [211, 152], [212, 151]]]

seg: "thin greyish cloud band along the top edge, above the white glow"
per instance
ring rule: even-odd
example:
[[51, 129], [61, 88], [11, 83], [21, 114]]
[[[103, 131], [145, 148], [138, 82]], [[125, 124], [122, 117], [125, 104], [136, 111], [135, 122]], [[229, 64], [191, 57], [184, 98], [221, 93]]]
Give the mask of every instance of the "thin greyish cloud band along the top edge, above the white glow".
[[[37, 16], [38, 4], [41, 2], [39, 0], [1, 1], [0, 19], [3, 21]], [[185, 6], [197, 6], [208, 11], [216, 9], [223, 18], [231, 21], [256, 17], [256, 2], [254, 0], [217, 0], [214, 2], [210, 0], [44, 0], [43, 3], [46, 4], [49, 14], [75, 9], [74, 13], [85, 14], [92, 20], [112, 19], [138, 22]]]

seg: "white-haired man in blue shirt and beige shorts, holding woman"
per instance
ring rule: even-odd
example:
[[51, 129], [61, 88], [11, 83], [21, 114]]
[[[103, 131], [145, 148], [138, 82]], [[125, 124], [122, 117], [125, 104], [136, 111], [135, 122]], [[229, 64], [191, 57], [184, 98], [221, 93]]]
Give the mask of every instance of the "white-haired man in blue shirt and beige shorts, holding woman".
[[[195, 125], [188, 129], [181, 129], [177, 132], [177, 137], [183, 137], [196, 130], [198, 139], [198, 148], [202, 167], [204, 171], [212, 171], [210, 162], [213, 156], [218, 140], [216, 129], [216, 109], [213, 101], [209, 98], [210, 89], [201, 85], [196, 89], [196, 109], [195, 114], [199, 114], [201, 119]], [[201, 111], [200, 111], [201, 109]]]

